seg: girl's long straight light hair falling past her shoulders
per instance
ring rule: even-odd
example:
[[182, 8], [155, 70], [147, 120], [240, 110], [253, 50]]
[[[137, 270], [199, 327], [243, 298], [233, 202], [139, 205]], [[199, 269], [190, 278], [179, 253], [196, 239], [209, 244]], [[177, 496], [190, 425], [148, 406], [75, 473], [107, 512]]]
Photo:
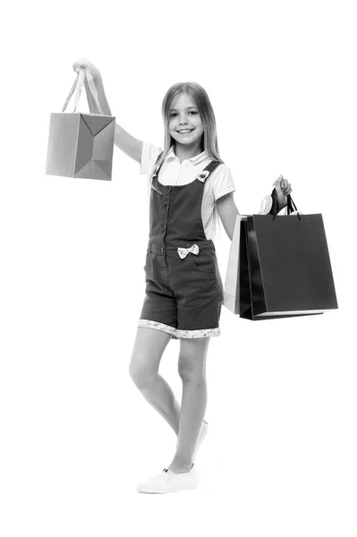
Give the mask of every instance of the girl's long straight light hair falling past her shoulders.
[[[174, 145], [174, 138], [169, 133], [168, 124], [170, 121], [170, 108], [173, 103], [174, 98], [177, 95], [182, 93], [188, 93], [193, 99], [196, 107], [198, 107], [200, 112], [200, 118], [203, 124], [203, 136], [201, 143], [201, 151], [207, 151], [208, 157], [212, 160], [218, 160], [222, 164], [225, 164], [222, 158], [219, 156], [218, 151], [218, 142], [217, 142], [217, 127], [216, 127], [216, 117], [213, 111], [212, 105], [208, 98], [208, 93], [206, 90], [200, 86], [197, 82], [177, 82], [171, 88], [166, 91], [166, 95], [163, 99], [161, 112], [165, 127], [165, 141], [164, 149], [161, 154], [161, 157], [157, 161], [155, 167], [161, 166], [164, 162], [168, 151], [171, 146]], [[219, 217], [217, 215], [217, 206], [215, 204], [215, 209], [213, 211], [213, 234], [218, 230], [220, 236], [220, 226], [219, 226]]]

